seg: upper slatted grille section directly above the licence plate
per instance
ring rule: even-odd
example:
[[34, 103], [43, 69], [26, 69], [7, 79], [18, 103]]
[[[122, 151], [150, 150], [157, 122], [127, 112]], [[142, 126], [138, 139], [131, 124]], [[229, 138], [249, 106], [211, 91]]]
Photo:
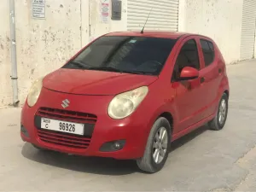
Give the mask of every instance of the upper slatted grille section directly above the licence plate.
[[96, 123], [97, 117], [94, 114], [67, 111], [56, 108], [39, 108], [37, 112], [38, 116], [59, 119], [64, 121], [76, 122], [76, 123]]

